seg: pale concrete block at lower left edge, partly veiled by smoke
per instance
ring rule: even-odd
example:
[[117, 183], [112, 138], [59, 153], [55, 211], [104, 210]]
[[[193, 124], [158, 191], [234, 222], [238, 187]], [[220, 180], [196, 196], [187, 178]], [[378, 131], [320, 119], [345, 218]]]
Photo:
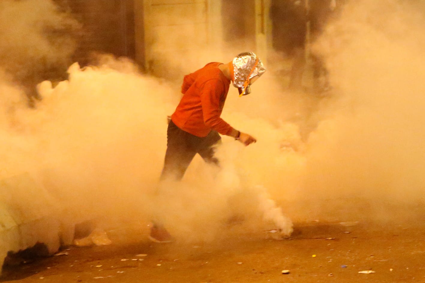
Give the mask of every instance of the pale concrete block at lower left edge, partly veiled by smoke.
[[57, 201], [29, 174], [0, 180], [0, 264], [7, 252], [37, 243], [44, 243], [49, 254], [57, 252], [62, 229], [59, 215]]

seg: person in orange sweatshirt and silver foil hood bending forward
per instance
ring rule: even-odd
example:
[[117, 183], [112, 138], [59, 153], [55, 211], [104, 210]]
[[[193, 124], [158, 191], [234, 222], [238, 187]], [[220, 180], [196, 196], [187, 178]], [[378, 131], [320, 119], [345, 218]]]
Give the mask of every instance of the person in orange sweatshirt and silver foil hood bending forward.
[[[240, 132], [220, 118], [229, 91], [230, 81], [239, 96], [251, 92], [250, 85], [266, 70], [252, 52], [241, 53], [232, 62], [208, 63], [184, 76], [183, 97], [171, 116], [167, 129], [167, 151], [161, 180], [180, 180], [196, 154], [208, 163], [218, 165], [213, 146], [220, 134], [235, 138], [248, 146], [257, 140]], [[153, 223], [149, 238], [155, 242], [169, 242], [170, 234], [160, 224]]]

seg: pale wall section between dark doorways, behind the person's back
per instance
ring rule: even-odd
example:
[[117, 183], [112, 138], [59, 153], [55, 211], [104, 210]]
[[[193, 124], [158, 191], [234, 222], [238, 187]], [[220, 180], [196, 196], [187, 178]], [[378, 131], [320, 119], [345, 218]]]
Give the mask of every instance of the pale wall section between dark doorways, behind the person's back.
[[175, 78], [221, 52], [221, 1], [135, 0], [135, 11], [136, 61], [153, 75]]

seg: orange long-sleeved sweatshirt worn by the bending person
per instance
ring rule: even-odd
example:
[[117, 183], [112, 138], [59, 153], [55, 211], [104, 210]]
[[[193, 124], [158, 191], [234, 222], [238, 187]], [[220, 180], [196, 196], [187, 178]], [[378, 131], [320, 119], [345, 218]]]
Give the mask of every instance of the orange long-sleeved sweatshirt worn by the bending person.
[[232, 131], [232, 127], [220, 118], [230, 80], [218, 68], [219, 64], [208, 63], [184, 76], [181, 85], [183, 97], [171, 115], [176, 126], [198, 137], [207, 136], [211, 129], [220, 134]]

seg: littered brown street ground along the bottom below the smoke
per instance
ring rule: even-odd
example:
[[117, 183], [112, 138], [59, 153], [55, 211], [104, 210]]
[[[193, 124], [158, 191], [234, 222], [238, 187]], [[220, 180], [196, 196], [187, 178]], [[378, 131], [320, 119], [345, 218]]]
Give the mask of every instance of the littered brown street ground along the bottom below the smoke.
[[[156, 244], [111, 233], [109, 246], [3, 269], [15, 282], [425, 282], [422, 223], [295, 223], [291, 238], [233, 233], [208, 244]], [[145, 256], [141, 256], [141, 254]], [[125, 260], [127, 259], [127, 260]], [[289, 274], [282, 274], [288, 269]], [[373, 270], [373, 274], [359, 271]]]

